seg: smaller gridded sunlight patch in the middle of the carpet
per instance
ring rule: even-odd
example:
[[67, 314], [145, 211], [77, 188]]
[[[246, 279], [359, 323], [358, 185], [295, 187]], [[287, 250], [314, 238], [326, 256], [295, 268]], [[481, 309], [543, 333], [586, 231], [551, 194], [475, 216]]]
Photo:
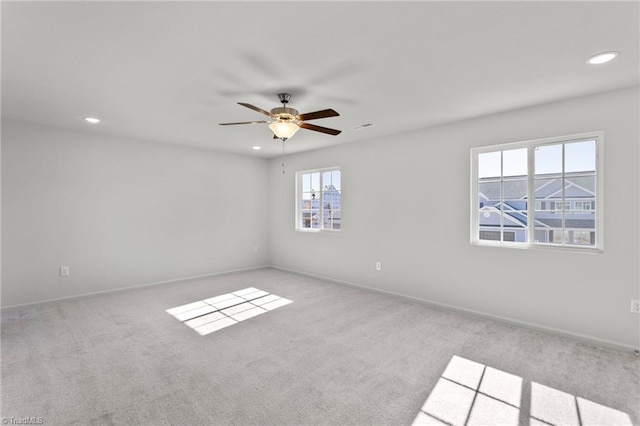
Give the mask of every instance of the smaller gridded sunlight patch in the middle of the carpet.
[[199, 300], [167, 313], [201, 336], [292, 303], [291, 300], [249, 287], [233, 293]]

